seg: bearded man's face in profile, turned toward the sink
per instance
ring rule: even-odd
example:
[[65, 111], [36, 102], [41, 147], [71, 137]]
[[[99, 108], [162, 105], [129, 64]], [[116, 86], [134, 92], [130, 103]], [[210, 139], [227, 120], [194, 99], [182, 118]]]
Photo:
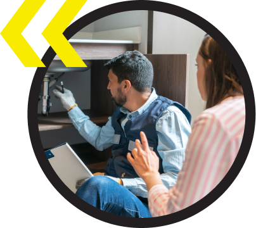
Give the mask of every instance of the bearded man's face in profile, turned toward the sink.
[[113, 99], [113, 103], [117, 106], [124, 106], [126, 103], [126, 96], [122, 93], [122, 85], [118, 84], [117, 75], [112, 72], [112, 68], [108, 72], [108, 87], [110, 89], [110, 94]]

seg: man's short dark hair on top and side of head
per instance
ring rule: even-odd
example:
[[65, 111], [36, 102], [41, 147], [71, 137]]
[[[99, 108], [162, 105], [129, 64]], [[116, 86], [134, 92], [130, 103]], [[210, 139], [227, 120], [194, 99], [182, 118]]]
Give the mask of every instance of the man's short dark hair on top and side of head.
[[118, 83], [129, 80], [138, 92], [151, 92], [153, 84], [153, 66], [139, 51], [127, 51], [113, 58], [104, 65], [108, 70], [117, 75]]

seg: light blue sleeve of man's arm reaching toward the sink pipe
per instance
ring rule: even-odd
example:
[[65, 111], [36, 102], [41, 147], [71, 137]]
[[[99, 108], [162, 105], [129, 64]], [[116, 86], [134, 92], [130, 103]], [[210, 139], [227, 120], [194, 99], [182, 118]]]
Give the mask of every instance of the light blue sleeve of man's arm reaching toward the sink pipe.
[[105, 126], [99, 127], [91, 122], [90, 118], [85, 115], [78, 106], [68, 111], [68, 116], [79, 134], [99, 151], [113, 145], [111, 142], [115, 134], [115, 130], [111, 124], [112, 117], [108, 117], [108, 122]]

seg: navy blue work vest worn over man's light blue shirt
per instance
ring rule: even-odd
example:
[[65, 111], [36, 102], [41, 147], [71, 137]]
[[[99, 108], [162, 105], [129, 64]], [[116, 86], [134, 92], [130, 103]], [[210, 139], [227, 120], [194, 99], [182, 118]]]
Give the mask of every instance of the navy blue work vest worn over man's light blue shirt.
[[[141, 137], [139, 135], [141, 131], [146, 134], [149, 146], [153, 148], [152, 150], [157, 154], [159, 158], [159, 172], [160, 174], [163, 174], [162, 158], [157, 151], [158, 136], [156, 124], [163, 111], [165, 111], [170, 105], [177, 106], [177, 108], [184, 113], [190, 124], [191, 114], [186, 110], [186, 108], [184, 108], [184, 106], [170, 99], [158, 96], [158, 98], [155, 99], [155, 101], [153, 101], [143, 113], [141, 113], [141, 115], [127, 120], [124, 125], [124, 134], [121, 125], [118, 123], [118, 119], [123, 117], [125, 114], [120, 111], [121, 106], [118, 106], [115, 109], [112, 116], [112, 127], [115, 130], [114, 138], [116, 140], [112, 148], [112, 157], [106, 164], [105, 175], [119, 178], [138, 177], [126, 156], [127, 153], [131, 152], [134, 148], [135, 140], [139, 139], [141, 141]], [[119, 138], [120, 140], [117, 140]]]

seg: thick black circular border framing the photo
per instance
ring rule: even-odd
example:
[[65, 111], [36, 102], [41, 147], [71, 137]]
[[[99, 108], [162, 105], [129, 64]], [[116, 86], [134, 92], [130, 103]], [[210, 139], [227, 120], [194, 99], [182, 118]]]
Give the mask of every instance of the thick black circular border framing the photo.
[[[189, 22], [194, 23], [196, 26], [202, 28], [203, 30], [205, 30], [205, 32], [210, 34], [215, 39], [215, 41], [217, 41], [222, 46], [224, 51], [226, 51], [226, 53], [229, 55], [229, 58], [231, 58], [231, 61], [233, 61], [238, 75], [240, 75], [241, 84], [243, 85], [243, 91], [245, 94], [246, 124], [240, 152], [238, 153], [238, 156], [236, 157], [236, 160], [234, 161], [231, 169], [224, 177], [224, 179], [222, 179], [220, 184], [215, 187], [213, 191], [207, 194], [205, 198], [198, 201], [194, 205], [191, 205], [184, 210], [170, 215], [166, 215], [164, 217], [156, 217], [151, 219], [134, 220], [127, 217], [112, 215], [110, 213], [98, 210], [97, 208], [94, 208], [94, 206], [91, 206], [85, 201], [78, 198], [68, 189], [67, 186], [65, 186], [65, 184], [63, 184], [63, 182], [61, 182], [58, 175], [56, 175], [53, 168], [51, 168], [51, 165], [49, 164], [46, 156], [43, 153], [44, 150], [42, 148], [39, 130], [37, 127], [37, 95], [39, 94], [44, 74], [46, 73], [46, 70], [55, 55], [51, 47], [48, 48], [42, 58], [42, 61], [46, 65], [46, 68], [37, 68], [34, 78], [32, 80], [29, 92], [27, 122], [29, 126], [30, 141], [35, 153], [35, 157], [37, 158], [37, 162], [39, 163], [42, 171], [51, 182], [51, 184], [54, 186], [54, 188], [68, 202], [70, 202], [72, 205], [74, 205], [76, 208], [86, 213], [87, 215], [90, 215], [95, 219], [99, 219], [109, 224], [120, 225], [124, 227], [141, 227], [141, 225], [146, 225], [147, 227], [160, 227], [163, 225], [170, 225], [176, 222], [180, 222], [182, 220], [188, 219], [189, 217], [192, 217], [193, 215], [196, 215], [199, 212], [202, 212], [202, 210], [210, 206], [222, 194], [224, 194], [228, 187], [230, 187], [231, 184], [234, 182], [234, 180], [240, 173], [241, 168], [243, 167], [252, 146], [256, 116], [255, 97], [253, 93], [252, 82], [243, 63], [243, 60], [241, 59], [240, 55], [233, 47], [231, 42], [229, 42], [227, 37], [222, 34], [220, 30], [214, 27], [214, 25], [212, 25], [201, 16], [193, 13], [192, 11], [189, 11], [188, 9], [176, 6], [174, 4], [163, 3], [159, 1], [124, 1], [120, 3], [108, 4], [101, 8], [95, 9], [94, 11], [91, 11], [84, 16], [81, 16], [78, 20], [70, 24], [67, 30], [65, 30], [64, 35], [65, 37], [67, 37], [67, 39], [70, 39], [72, 35], [74, 35], [86, 25], [89, 25], [89, 23], [94, 22], [95, 20], [98, 20], [104, 16], [112, 15], [113, 13], [131, 10], [161, 11], [163, 13], [169, 13], [171, 15], [179, 16], [185, 20], [188, 20]], [[243, 153], [241, 153], [241, 151], [243, 151]]]

